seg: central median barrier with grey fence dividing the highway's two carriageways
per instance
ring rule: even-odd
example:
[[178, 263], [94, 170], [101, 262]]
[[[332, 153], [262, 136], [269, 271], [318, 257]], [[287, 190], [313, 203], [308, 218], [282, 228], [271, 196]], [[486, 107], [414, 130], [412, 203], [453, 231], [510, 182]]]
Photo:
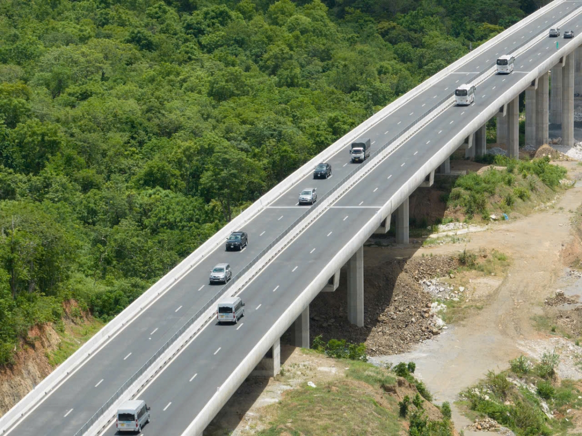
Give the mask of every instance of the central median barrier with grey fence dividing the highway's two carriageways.
[[[578, 6], [576, 9], [581, 8], [582, 5]], [[573, 9], [573, 10], [576, 10]], [[560, 22], [560, 20], [562, 19], [558, 19], [555, 22], [553, 22], [552, 24], [549, 25], [549, 27], [552, 27], [554, 24]], [[538, 35], [545, 33], [546, 29], [538, 32], [537, 34], [534, 35], [534, 38], [538, 37]], [[521, 47], [523, 47], [524, 45], [528, 44], [528, 42], [531, 42], [531, 39], [523, 42], [522, 44], [518, 45], [516, 48], [513, 49], [512, 53], [516, 52], [518, 49], [520, 49]], [[488, 65], [487, 67], [485, 67], [484, 69], [482, 69], [479, 73], [475, 74], [475, 76], [471, 77], [471, 81], [469, 83], [473, 83], [475, 80], [477, 80], [478, 77], [482, 76], [482, 74], [486, 73], [488, 70], [490, 70], [493, 66], [495, 66], [496, 62], [491, 63], [490, 65]], [[192, 316], [188, 321], [186, 321], [186, 323], [184, 323], [184, 325], [170, 338], [168, 339], [168, 341], [162, 345], [162, 347], [160, 349], [158, 349], [157, 352], [154, 353], [153, 356], [151, 356], [150, 359], [147, 360], [147, 362], [145, 362], [143, 364], [143, 366], [141, 366], [141, 368], [139, 370], [136, 371], [136, 373], [133, 374], [132, 377], [130, 377], [128, 380], [126, 380], [125, 383], [123, 383], [123, 385], [115, 392], [115, 394], [113, 394], [111, 396], [111, 398], [109, 398], [107, 400], [107, 402], [104, 403], [104, 405], [101, 406], [101, 408], [99, 408], [97, 410], [97, 412], [95, 412], [93, 414], [93, 416], [91, 416], [91, 419], [89, 419], [87, 421], [87, 423], [85, 423], [83, 425], [83, 427], [81, 427], [79, 429], [79, 431], [77, 431], [77, 433], [74, 434], [74, 436], [81, 436], [84, 433], [87, 432], [87, 430], [93, 426], [93, 424], [100, 419], [100, 417], [107, 412], [107, 410], [113, 405], [113, 403], [115, 401], [117, 401], [119, 399], [119, 397], [121, 395], [123, 395], [123, 393], [133, 384], [137, 381], [137, 379], [139, 377], [141, 377], [145, 371], [152, 365], [152, 363], [154, 363], [180, 336], [182, 336], [182, 334], [192, 325], [194, 324], [194, 322], [200, 318], [200, 316], [203, 315], [204, 312], [206, 312], [208, 309], [211, 308], [212, 305], [214, 305], [215, 302], [218, 301], [219, 298], [221, 298], [221, 296], [223, 294], [226, 293], [226, 291], [228, 291], [228, 289], [232, 286], [233, 283], [236, 282], [236, 280], [238, 280], [239, 278], [243, 277], [244, 274], [247, 273], [247, 271], [249, 271], [251, 269], [251, 267], [253, 267], [259, 259], [261, 259], [265, 254], [267, 254], [267, 252], [269, 252], [279, 241], [282, 240], [282, 238], [284, 238], [286, 235], [288, 235], [295, 227], [297, 227], [299, 225], [299, 223], [301, 223], [301, 221], [303, 221], [308, 215], [310, 215], [311, 213], [314, 213], [315, 210], [317, 210], [320, 205], [323, 204], [322, 200], [329, 198], [329, 196], [331, 196], [335, 191], [337, 191], [340, 187], [342, 187], [348, 180], [350, 180], [350, 178], [352, 178], [356, 173], [358, 173], [359, 171], [363, 170], [365, 167], [367, 167], [367, 165], [373, 160], [374, 156], [378, 155], [378, 153], [384, 151], [386, 148], [388, 148], [388, 146], [392, 145], [395, 141], [399, 140], [399, 138], [401, 138], [405, 133], [407, 133], [409, 130], [411, 130], [411, 128], [413, 128], [414, 126], [416, 126], [416, 124], [418, 124], [418, 122], [422, 119], [424, 119], [425, 117], [427, 117], [428, 115], [430, 115], [431, 112], [433, 112], [435, 109], [437, 109], [439, 106], [441, 106], [443, 103], [445, 103], [448, 99], [450, 99], [451, 97], [453, 97], [453, 95], [455, 94], [455, 92], [450, 93], [449, 95], [447, 95], [446, 97], [442, 98], [438, 103], [436, 103], [435, 105], [433, 105], [430, 109], [428, 109], [426, 112], [423, 113], [423, 115], [417, 117], [417, 119], [415, 119], [414, 121], [412, 121], [410, 124], [408, 124], [406, 127], [404, 127], [400, 133], [394, 135], [389, 141], [387, 141], [384, 145], [382, 145], [380, 148], [378, 148], [377, 151], [375, 151], [368, 160], [365, 160], [363, 163], [361, 163], [360, 165], [358, 165], [356, 167], [356, 169], [354, 169], [353, 171], [351, 171], [347, 176], [345, 176], [342, 180], [339, 181], [339, 183], [337, 183], [331, 190], [329, 190], [328, 192], [326, 192], [324, 195], [322, 195], [322, 197], [320, 199], [318, 199], [318, 202], [311, 206], [309, 209], [306, 210], [306, 212], [304, 212], [299, 218], [297, 218], [288, 228], [286, 228], [285, 231], [283, 231], [283, 233], [279, 234], [278, 237], [275, 238], [275, 240], [273, 240], [271, 242], [271, 244], [269, 244], [265, 249], [263, 249], [257, 256], [255, 256], [255, 258], [253, 260], [251, 260], [251, 262], [249, 262], [245, 267], [243, 267], [242, 270], [239, 271], [239, 273], [235, 274], [235, 276], [232, 277], [232, 279], [229, 281], [229, 283], [227, 283], [226, 285], [224, 285], [221, 290], [219, 290], [204, 306], [203, 308], [199, 309], [198, 312], [196, 312], [194, 314], [194, 316]]]

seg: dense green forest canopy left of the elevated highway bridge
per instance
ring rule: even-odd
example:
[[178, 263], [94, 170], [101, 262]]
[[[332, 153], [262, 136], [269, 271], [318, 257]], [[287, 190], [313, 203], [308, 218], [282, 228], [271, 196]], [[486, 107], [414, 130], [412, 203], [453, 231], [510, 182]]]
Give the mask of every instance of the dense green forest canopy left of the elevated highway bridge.
[[541, 6], [0, 0], [0, 364], [107, 320], [258, 196]]

